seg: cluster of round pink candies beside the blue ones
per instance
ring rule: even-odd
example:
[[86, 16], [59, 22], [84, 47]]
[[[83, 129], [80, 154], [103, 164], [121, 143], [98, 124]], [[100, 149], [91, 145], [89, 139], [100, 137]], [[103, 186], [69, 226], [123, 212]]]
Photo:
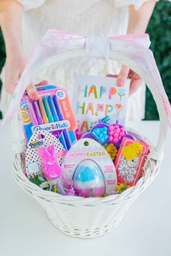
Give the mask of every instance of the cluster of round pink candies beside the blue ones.
[[125, 136], [125, 128], [120, 127], [120, 125], [109, 126], [109, 141], [117, 143], [124, 136]]

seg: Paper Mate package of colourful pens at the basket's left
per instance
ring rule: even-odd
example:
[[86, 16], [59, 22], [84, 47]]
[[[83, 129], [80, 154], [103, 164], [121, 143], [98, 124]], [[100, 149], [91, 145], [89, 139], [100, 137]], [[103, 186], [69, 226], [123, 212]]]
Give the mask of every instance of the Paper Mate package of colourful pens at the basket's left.
[[69, 150], [77, 140], [77, 125], [67, 92], [51, 85], [36, 88], [38, 100], [30, 100], [25, 94], [20, 104], [25, 138], [29, 141], [34, 132], [48, 131]]

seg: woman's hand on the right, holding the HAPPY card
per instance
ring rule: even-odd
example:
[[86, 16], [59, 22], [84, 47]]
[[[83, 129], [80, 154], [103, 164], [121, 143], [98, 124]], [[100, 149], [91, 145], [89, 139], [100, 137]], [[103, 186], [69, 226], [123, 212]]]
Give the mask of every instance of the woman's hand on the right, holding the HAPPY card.
[[117, 78], [117, 86], [122, 87], [124, 86], [124, 82], [126, 79], [130, 79], [130, 95], [134, 94], [135, 91], [143, 83], [143, 80], [137, 75], [133, 70], [130, 70], [128, 67], [122, 65], [120, 73], [118, 75], [107, 75], [112, 78]]

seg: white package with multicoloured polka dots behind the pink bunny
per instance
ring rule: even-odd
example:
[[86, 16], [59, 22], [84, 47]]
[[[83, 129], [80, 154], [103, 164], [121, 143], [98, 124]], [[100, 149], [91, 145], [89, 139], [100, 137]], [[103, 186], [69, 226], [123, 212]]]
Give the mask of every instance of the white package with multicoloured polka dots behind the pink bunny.
[[54, 145], [57, 161], [59, 165], [62, 165], [66, 152], [60, 141], [53, 134], [47, 131], [36, 131], [31, 136], [27, 145], [25, 154], [25, 175], [38, 186], [46, 181], [46, 178], [44, 178], [41, 172], [42, 163], [38, 149], [41, 147], [48, 148], [51, 145]]

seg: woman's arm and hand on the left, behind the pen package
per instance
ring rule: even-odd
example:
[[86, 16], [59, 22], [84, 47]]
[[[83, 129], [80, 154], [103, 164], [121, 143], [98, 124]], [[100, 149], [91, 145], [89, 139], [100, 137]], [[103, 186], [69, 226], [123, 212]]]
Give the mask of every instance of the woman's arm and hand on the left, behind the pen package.
[[[23, 7], [16, 0], [0, 0], [0, 26], [4, 35], [7, 53], [5, 69], [5, 90], [14, 93], [26, 65], [22, 45]], [[36, 87], [31, 83], [28, 88], [30, 99], [38, 99]]]

